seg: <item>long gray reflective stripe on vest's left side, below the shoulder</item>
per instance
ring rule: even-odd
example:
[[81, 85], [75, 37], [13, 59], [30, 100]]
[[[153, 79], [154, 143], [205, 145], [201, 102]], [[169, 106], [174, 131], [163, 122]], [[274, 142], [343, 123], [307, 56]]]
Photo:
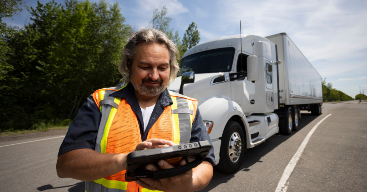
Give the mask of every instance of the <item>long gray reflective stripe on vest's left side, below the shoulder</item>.
[[[105, 90], [105, 95], [103, 96], [103, 100], [101, 101], [109, 100], [113, 102], [115, 100], [115, 97], [109, 96], [109, 94], [112, 94], [114, 92], [115, 91]], [[94, 151], [97, 151], [99, 153], [101, 153], [101, 141], [102, 141], [103, 133], [105, 132], [105, 126], [107, 124], [107, 120], [110, 115], [111, 109], [112, 109], [112, 105], [102, 105], [102, 109], [101, 109], [102, 117], [101, 117], [101, 122], [99, 123], [97, 140], [96, 140], [95, 147], [94, 147]]]

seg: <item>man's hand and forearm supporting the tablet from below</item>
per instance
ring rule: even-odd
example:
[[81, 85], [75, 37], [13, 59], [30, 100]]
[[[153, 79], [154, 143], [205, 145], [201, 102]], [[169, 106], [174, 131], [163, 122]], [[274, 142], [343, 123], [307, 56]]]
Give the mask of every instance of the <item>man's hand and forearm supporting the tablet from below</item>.
[[[181, 160], [178, 166], [182, 166], [186, 164], [185, 160]], [[158, 162], [160, 169], [171, 169], [173, 166], [167, 163], [165, 160], [160, 160]], [[148, 164], [145, 167], [147, 170], [156, 171], [159, 170], [153, 164]], [[143, 188], [147, 188], [150, 190], [159, 190], [159, 191], [197, 191], [209, 184], [211, 177], [213, 175], [213, 166], [204, 161], [199, 166], [194, 169], [181, 174], [175, 177], [160, 179], [153, 181], [152, 178], [143, 179], [141, 178], [138, 181], [135, 181], [137, 184], [142, 186]]]

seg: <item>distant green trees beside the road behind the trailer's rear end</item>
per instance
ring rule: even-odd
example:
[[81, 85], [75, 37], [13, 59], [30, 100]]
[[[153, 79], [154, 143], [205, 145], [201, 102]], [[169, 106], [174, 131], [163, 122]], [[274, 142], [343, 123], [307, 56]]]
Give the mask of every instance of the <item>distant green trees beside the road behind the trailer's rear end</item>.
[[323, 101], [349, 101], [352, 97], [342, 91], [333, 88], [332, 83], [326, 83], [326, 78], [322, 81]]

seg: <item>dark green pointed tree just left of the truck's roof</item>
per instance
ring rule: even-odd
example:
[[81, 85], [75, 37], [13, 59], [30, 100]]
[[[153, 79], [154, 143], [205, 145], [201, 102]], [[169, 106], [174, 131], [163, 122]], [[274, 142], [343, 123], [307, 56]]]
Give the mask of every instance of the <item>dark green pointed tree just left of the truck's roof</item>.
[[200, 41], [200, 32], [197, 30], [197, 25], [192, 22], [183, 34], [182, 44], [180, 46], [180, 58], [185, 54], [185, 52], [198, 44]]

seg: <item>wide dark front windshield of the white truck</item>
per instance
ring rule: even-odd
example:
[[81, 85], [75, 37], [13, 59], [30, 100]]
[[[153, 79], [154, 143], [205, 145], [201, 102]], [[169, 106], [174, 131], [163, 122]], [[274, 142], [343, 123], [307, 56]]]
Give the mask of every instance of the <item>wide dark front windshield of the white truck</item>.
[[219, 48], [198, 52], [182, 58], [180, 61], [180, 76], [182, 73], [193, 71], [195, 73], [228, 72], [232, 69], [235, 48]]

